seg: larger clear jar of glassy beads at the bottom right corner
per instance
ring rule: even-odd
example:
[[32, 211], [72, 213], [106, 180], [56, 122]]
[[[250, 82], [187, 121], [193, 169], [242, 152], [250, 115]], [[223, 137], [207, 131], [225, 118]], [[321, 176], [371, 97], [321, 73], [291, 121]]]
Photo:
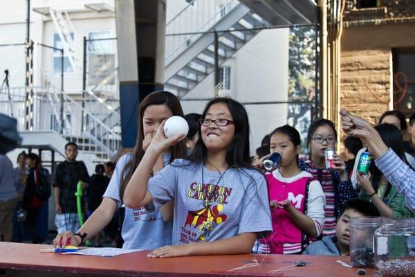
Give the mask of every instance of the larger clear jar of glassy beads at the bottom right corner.
[[415, 221], [394, 220], [375, 232], [376, 269], [382, 276], [415, 276]]

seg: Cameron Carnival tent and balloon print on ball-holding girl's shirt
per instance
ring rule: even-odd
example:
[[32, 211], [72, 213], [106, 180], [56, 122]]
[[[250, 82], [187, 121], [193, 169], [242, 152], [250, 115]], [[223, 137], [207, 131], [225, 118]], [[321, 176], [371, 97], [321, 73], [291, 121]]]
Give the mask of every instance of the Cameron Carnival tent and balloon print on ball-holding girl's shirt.
[[214, 184], [201, 184], [193, 182], [187, 197], [201, 200], [203, 208], [187, 213], [185, 226], [181, 228], [180, 241], [184, 243], [207, 241], [210, 233], [216, 226], [225, 222], [228, 216], [223, 213], [225, 204], [232, 188]]

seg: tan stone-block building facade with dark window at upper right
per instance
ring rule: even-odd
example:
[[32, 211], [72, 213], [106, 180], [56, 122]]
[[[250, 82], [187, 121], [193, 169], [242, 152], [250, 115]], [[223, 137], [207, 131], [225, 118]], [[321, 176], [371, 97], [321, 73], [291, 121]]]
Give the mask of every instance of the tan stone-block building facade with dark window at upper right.
[[415, 1], [347, 0], [341, 42], [340, 107], [373, 124], [414, 114]]

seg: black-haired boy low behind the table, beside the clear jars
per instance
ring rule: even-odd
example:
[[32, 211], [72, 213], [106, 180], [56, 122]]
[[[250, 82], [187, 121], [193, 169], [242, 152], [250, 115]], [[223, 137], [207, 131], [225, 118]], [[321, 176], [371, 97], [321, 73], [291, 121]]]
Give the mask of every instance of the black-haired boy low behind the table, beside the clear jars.
[[380, 216], [378, 209], [363, 199], [352, 199], [344, 206], [335, 226], [335, 235], [310, 244], [303, 255], [347, 256], [350, 254], [349, 222], [351, 217]]

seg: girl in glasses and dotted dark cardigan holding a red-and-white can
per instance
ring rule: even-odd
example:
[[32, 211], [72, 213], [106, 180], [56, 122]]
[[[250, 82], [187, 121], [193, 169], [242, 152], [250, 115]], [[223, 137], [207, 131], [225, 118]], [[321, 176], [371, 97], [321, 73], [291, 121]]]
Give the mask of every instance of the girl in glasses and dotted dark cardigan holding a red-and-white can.
[[325, 151], [327, 148], [335, 148], [337, 132], [333, 122], [327, 119], [318, 119], [308, 127], [307, 145], [309, 154], [299, 159], [299, 168], [310, 172], [315, 179], [320, 181], [326, 206], [324, 229], [322, 235], [335, 235], [335, 223], [344, 204], [350, 199], [358, 197], [358, 192], [353, 189], [346, 165], [338, 154], [333, 156], [334, 168], [325, 166]]

